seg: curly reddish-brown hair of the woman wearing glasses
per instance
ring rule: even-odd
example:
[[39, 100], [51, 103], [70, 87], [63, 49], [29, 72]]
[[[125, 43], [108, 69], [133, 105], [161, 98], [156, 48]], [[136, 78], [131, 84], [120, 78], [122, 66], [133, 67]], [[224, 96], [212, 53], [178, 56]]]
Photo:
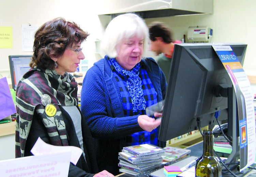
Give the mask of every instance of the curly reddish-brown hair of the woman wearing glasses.
[[88, 35], [75, 22], [66, 21], [62, 17], [44, 23], [35, 33], [34, 53], [29, 66], [53, 70], [54, 61], [51, 57], [60, 57], [66, 47], [82, 43]]

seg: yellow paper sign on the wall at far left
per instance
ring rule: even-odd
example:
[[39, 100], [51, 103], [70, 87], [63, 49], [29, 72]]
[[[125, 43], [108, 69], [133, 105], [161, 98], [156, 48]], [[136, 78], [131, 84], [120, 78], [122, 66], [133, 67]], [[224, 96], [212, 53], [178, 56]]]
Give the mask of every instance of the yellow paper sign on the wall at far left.
[[13, 48], [12, 27], [0, 27], [0, 48]]

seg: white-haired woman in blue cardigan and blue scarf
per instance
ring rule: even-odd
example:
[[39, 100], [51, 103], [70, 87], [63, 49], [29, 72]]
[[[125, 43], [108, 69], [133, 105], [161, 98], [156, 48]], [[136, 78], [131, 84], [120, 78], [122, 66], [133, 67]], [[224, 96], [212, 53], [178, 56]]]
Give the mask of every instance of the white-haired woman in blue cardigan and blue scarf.
[[94, 138], [97, 163], [114, 175], [123, 147], [165, 146], [157, 140], [161, 120], [145, 111], [164, 99], [167, 86], [154, 59], [142, 57], [149, 42], [147, 25], [138, 15], [115, 17], [102, 41], [106, 56], [87, 71], [82, 84], [81, 111]]

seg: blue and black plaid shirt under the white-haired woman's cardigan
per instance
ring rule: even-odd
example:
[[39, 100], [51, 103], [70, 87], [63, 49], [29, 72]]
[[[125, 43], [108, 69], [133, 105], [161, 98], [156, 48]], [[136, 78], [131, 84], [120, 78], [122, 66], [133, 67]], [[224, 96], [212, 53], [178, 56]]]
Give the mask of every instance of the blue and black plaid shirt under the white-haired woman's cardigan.
[[[120, 94], [122, 97], [124, 115], [134, 116], [134, 115], [146, 114], [145, 110], [133, 112], [132, 99], [126, 84], [128, 77], [122, 76], [121, 74], [117, 73], [116, 70], [114, 69], [114, 66], [111, 64], [111, 62], [108, 61], [108, 63], [113, 71], [114, 77], [119, 86]], [[141, 79], [142, 90], [143, 90], [144, 98], [146, 100], [146, 107], [152, 106], [153, 104], [157, 103], [157, 97], [156, 97], [157, 93], [155, 91], [155, 88], [153, 87], [153, 84], [148, 76], [146, 67], [144, 65], [141, 65], [140, 67], [139, 77]], [[157, 136], [158, 134], [156, 129], [154, 129], [151, 132], [141, 131], [141, 132], [133, 133], [131, 136], [126, 137], [125, 146], [148, 144], [148, 143], [157, 145]]]

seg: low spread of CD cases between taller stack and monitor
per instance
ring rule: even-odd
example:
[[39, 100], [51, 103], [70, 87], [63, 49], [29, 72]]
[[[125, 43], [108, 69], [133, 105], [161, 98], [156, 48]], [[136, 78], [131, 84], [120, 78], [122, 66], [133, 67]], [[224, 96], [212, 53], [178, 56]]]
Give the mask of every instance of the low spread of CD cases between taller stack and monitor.
[[188, 153], [191, 152], [190, 149], [182, 149], [178, 147], [164, 147], [165, 152], [164, 155], [162, 155], [164, 162], [171, 162], [175, 161], [177, 159], [185, 157]]

